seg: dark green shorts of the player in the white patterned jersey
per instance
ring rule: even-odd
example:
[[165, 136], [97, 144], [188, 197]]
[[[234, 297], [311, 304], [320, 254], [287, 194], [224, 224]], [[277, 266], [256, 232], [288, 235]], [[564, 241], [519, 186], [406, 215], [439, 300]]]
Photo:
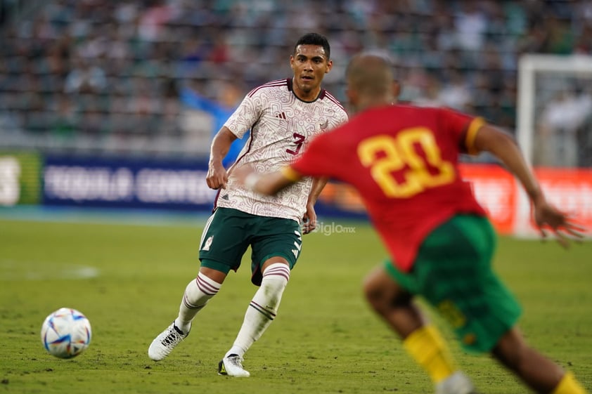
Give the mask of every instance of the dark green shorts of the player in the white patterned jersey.
[[231, 208], [217, 208], [205, 224], [200, 242], [202, 266], [228, 273], [238, 270], [243, 254], [251, 247], [251, 282], [261, 285], [261, 265], [271, 257], [296, 264], [302, 249], [297, 221], [256, 216]]

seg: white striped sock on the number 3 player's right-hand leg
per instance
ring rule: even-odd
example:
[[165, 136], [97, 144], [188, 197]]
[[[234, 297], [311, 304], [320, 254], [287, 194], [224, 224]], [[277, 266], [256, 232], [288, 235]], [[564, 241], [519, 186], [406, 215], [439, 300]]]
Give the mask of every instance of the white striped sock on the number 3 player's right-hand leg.
[[263, 273], [261, 287], [253, 296], [243, 326], [240, 327], [238, 335], [232, 348], [226, 352], [224, 357], [231, 354], [243, 357], [251, 345], [261, 338], [269, 324], [276, 317], [282, 294], [285, 286], [290, 280], [290, 268], [283, 263], [269, 265]]

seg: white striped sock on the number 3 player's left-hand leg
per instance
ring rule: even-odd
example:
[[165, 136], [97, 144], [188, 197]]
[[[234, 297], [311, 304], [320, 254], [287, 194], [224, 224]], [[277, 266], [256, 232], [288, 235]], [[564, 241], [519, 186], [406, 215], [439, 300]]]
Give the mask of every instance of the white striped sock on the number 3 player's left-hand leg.
[[175, 325], [178, 329], [187, 333], [191, 328], [193, 317], [205, 306], [207, 301], [218, 293], [222, 285], [201, 272], [195, 280], [187, 284], [181, 306], [179, 306], [179, 316], [175, 319]]

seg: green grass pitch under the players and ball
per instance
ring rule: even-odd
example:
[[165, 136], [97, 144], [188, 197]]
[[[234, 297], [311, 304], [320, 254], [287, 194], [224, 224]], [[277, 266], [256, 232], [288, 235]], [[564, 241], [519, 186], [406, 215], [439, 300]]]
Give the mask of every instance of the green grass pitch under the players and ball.
[[[304, 237], [278, 317], [245, 357], [251, 377], [238, 379], [218, 376], [217, 363], [256, 290], [246, 259], [184, 343], [161, 362], [146, 354], [197, 273], [202, 223], [0, 220], [0, 393], [432, 393], [362, 298], [363, 277], [384, 249], [366, 223], [336, 223], [355, 233]], [[527, 341], [591, 390], [592, 243], [564, 251], [501, 237], [494, 265], [524, 307]], [[95, 277], [78, 277], [89, 268]], [[39, 339], [41, 322], [62, 306], [81, 310], [93, 328], [91, 346], [71, 360], [49, 355]], [[451, 348], [482, 393], [529, 392], [489, 356]]]

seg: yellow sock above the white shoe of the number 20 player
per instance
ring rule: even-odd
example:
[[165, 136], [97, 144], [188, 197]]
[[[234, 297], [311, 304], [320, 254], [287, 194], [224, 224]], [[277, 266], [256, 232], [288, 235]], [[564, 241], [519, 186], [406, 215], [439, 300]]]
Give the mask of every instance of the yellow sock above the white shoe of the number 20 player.
[[421, 365], [434, 383], [439, 383], [456, 371], [452, 356], [436, 327], [416, 329], [403, 341], [407, 353]]

